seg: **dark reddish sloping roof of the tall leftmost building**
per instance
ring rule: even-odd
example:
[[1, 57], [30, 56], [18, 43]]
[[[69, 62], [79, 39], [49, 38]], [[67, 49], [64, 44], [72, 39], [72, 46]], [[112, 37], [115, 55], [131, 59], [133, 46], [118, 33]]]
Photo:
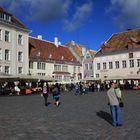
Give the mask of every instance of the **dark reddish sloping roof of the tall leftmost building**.
[[16, 17], [14, 17], [12, 14], [10, 14], [9, 12], [7, 12], [6, 10], [4, 10], [2, 7], [0, 7], [0, 12], [7, 14], [9, 16], [11, 16], [11, 23], [12, 25], [18, 26], [20, 28], [26, 29], [26, 30], [30, 30], [28, 27], [26, 27], [21, 21], [19, 21]]

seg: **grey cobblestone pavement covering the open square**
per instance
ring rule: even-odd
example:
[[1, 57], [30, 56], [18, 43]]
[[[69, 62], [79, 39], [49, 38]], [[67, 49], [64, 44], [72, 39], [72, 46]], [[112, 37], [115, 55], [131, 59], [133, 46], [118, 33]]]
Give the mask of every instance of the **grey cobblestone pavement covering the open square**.
[[114, 128], [106, 92], [44, 106], [40, 95], [0, 97], [0, 140], [140, 140], [140, 91], [123, 91], [123, 126]]

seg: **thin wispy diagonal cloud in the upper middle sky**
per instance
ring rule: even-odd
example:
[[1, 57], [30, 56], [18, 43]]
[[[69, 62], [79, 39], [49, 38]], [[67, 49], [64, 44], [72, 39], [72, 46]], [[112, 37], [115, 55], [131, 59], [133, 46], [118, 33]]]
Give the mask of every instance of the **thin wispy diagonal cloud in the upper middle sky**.
[[92, 10], [93, 3], [91, 1], [88, 1], [87, 3], [84, 3], [83, 5], [77, 7], [76, 12], [72, 17], [72, 20], [64, 21], [64, 29], [67, 31], [74, 31], [79, 28], [82, 24], [87, 22]]

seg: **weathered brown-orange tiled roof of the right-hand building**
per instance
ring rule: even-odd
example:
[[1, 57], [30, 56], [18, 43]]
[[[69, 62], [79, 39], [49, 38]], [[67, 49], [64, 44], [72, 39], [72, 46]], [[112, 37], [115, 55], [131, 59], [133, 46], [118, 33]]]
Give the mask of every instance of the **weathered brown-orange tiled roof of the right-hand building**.
[[140, 48], [140, 29], [113, 34], [107, 42], [102, 44], [101, 49], [96, 55], [136, 48]]

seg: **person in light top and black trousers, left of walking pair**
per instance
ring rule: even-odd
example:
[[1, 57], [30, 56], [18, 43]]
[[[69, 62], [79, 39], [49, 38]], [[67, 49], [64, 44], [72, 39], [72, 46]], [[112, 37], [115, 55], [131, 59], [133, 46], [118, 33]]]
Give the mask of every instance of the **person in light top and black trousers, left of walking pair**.
[[45, 100], [45, 106], [48, 106], [48, 84], [45, 82], [43, 84], [43, 88], [42, 88], [42, 91], [43, 91], [43, 97], [44, 97], [44, 100]]

